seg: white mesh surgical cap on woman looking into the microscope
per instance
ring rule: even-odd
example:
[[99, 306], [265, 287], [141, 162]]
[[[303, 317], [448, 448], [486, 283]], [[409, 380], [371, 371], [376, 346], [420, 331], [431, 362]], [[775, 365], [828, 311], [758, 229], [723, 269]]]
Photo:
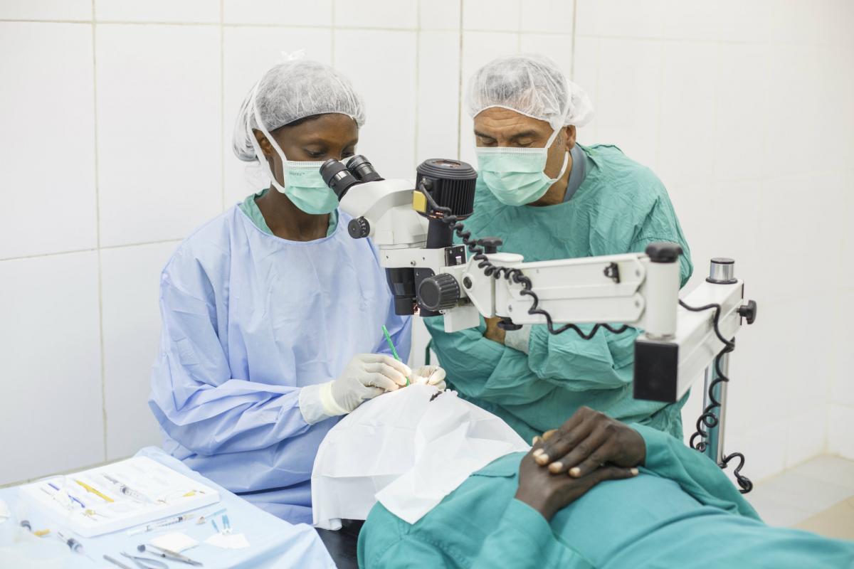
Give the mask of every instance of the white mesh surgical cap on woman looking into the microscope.
[[[255, 150], [252, 129], [258, 128], [252, 108], [253, 88], [249, 90], [234, 124], [232, 145], [237, 158], [253, 162]], [[255, 96], [260, 119], [267, 131], [314, 114], [341, 113], [356, 124], [365, 124], [365, 105], [348, 78], [332, 67], [298, 59], [272, 67], [260, 78]]]

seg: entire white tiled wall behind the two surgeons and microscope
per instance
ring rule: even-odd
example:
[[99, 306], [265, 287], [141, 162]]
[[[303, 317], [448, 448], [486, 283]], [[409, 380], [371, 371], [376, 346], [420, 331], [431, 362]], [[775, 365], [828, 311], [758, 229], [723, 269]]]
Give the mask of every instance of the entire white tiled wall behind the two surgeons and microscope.
[[[360, 151], [393, 177], [473, 161], [461, 96], [478, 66], [519, 50], [559, 61], [598, 109], [579, 140], [617, 144], [670, 189], [689, 286], [731, 256], [759, 302], [732, 359], [728, 449], [757, 479], [822, 450], [854, 456], [852, 6], [0, 3], [0, 484], [158, 443], [158, 272], [253, 189], [231, 153], [237, 107], [297, 49], [353, 78]], [[419, 362], [419, 322], [415, 336]]]

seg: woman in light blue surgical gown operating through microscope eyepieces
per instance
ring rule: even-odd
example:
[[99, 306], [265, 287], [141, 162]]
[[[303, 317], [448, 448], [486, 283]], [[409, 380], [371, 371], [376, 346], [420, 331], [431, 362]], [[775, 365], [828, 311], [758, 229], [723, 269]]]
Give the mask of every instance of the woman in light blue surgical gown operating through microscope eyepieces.
[[[181, 243], [161, 274], [151, 407], [164, 448], [268, 512], [311, 523], [310, 478], [340, 415], [407, 383], [442, 383], [409, 353], [377, 252], [352, 239], [319, 166], [352, 156], [365, 113], [314, 61], [270, 69], [243, 102], [237, 158], [271, 186]], [[436, 372], [436, 373], [433, 373]]]

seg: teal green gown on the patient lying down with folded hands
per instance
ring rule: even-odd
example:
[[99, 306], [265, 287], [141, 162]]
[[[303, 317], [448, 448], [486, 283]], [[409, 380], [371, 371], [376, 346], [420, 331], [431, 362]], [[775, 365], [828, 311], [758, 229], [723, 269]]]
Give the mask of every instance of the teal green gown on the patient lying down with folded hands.
[[551, 522], [513, 497], [523, 453], [472, 474], [414, 525], [377, 503], [360, 532], [359, 566], [854, 566], [854, 542], [763, 524], [714, 462], [633, 427], [646, 442], [640, 474], [595, 486]]

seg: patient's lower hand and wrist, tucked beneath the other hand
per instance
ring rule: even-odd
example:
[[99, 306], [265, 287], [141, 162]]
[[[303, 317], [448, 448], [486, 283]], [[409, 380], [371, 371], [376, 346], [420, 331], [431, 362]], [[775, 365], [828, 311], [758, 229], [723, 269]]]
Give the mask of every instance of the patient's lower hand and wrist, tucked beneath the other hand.
[[609, 465], [581, 478], [554, 475], [535, 461], [534, 453], [542, 448], [542, 444], [542, 439], [536, 438], [534, 448], [519, 463], [519, 487], [515, 497], [542, 514], [547, 521], [551, 521], [559, 509], [575, 502], [600, 482], [631, 478], [638, 472], [636, 468]]

